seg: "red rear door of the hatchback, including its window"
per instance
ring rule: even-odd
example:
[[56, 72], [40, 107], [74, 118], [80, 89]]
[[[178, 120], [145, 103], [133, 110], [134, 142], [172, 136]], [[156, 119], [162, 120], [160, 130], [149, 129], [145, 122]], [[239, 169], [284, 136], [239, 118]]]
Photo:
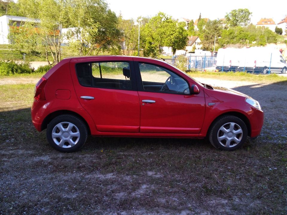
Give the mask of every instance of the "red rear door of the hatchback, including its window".
[[112, 59], [71, 60], [77, 97], [98, 131], [139, 132], [140, 104], [133, 63], [131, 58]]

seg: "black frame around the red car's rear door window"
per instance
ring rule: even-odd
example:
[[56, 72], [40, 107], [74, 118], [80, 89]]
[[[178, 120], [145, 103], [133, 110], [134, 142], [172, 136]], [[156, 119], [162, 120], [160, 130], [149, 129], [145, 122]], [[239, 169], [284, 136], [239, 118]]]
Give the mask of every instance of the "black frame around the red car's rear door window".
[[[127, 62], [129, 63], [129, 67], [130, 67], [130, 72], [131, 72], [131, 77], [130, 80], [132, 81], [132, 89], [119, 89], [119, 88], [112, 88], [112, 87], [96, 87], [96, 86], [87, 86], [87, 85], [83, 85], [82, 83], [80, 83], [79, 81], [79, 76], [77, 73], [77, 65], [78, 64], [92, 64], [92, 63], [109, 63], [109, 62]], [[78, 83], [82, 86], [82, 87], [91, 87], [91, 88], [100, 88], [100, 89], [112, 89], [112, 90], [129, 90], [129, 91], [137, 91], [137, 84], [136, 84], [136, 75], [135, 75], [135, 67], [133, 64], [132, 60], [101, 60], [101, 61], [85, 61], [85, 62], [79, 62], [75, 64], [75, 72], [76, 72], [76, 76], [78, 79]], [[90, 65], [90, 75], [91, 74], [91, 65]], [[102, 78], [102, 74], [100, 74], [101, 78]]]

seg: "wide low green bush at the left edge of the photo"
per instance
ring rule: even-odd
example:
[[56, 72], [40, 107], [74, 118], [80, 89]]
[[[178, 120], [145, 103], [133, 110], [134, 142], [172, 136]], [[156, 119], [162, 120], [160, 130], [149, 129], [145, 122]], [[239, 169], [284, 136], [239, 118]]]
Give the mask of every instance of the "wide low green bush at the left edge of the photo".
[[31, 73], [28, 63], [16, 63], [15, 61], [0, 61], [0, 75], [13, 75]]

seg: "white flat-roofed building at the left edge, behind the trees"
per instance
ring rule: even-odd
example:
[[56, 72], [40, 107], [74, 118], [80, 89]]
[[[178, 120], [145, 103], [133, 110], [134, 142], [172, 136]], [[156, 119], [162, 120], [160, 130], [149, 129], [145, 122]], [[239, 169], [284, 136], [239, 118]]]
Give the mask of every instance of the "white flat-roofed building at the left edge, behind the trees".
[[23, 22], [39, 22], [36, 19], [30, 19], [27, 17], [20, 17], [20, 16], [0, 16], [0, 44], [9, 44], [9, 40], [7, 36], [10, 32], [10, 27], [14, 22], [16, 22], [16, 26], [19, 27]]

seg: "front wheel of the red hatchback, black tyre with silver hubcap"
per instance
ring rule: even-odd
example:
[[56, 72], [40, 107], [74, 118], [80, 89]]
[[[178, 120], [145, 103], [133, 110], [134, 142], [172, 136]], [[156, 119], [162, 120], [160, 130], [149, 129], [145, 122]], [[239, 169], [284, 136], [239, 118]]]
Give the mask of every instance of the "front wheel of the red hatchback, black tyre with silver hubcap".
[[211, 125], [209, 142], [217, 149], [233, 151], [243, 145], [247, 138], [247, 126], [237, 116], [222, 116]]

